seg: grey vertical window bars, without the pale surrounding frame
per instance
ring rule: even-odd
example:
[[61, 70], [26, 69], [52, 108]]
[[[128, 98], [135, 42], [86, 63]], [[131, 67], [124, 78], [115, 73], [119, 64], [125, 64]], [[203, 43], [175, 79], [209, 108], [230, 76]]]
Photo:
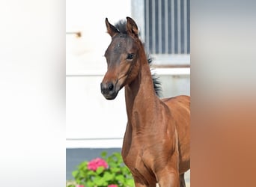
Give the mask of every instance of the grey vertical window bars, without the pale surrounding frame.
[[146, 49], [152, 54], [189, 54], [189, 0], [144, 0]]

